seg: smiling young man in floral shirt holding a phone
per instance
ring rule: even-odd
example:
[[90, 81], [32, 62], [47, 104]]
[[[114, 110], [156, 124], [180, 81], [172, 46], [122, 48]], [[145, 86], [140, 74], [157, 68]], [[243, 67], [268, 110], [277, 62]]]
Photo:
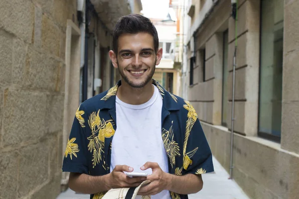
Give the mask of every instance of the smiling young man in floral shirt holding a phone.
[[[122, 80], [108, 92], [80, 104], [65, 150], [62, 170], [69, 187], [101, 199], [116, 188], [138, 187], [138, 197], [187, 199], [202, 189], [201, 174], [213, 172], [212, 154], [187, 100], [152, 80], [162, 57], [150, 20], [120, 18], [111, 61]], [[129, 178], [124, 172], [146, 172]]]

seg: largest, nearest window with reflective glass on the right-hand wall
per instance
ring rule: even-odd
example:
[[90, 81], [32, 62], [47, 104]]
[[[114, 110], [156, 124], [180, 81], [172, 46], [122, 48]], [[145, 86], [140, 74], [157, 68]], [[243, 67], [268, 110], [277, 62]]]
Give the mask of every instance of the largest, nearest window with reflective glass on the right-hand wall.
[[262, 0], [258, 132], [275, 141], [281, 137], [283, 36], [284, 1]]

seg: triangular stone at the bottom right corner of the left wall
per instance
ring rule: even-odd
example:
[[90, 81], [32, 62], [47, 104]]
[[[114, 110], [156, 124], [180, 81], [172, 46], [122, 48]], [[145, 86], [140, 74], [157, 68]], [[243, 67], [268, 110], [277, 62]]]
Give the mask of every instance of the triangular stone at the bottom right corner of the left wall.
[[31, 199], [56, 199], [60, 194], [61, 175], [53, 176], [53, 179], [40, 190], [32, 194]]

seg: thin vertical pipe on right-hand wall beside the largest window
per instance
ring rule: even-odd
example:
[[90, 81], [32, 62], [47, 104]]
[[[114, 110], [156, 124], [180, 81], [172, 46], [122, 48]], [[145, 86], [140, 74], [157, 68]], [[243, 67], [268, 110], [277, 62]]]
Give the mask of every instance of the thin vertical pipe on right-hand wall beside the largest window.
[[230, 177], [233, 179], [233, 145], [234, 145], [234, 120], [235, 120], [235, 75], [236, 75], [236, 53], [237, 53], [237, 11], [238, 0], [231, 0], [232, 2], [232, 17], [235, 19], [235, 52], [233, 58], [233, 94], [232, 94], [232, 127], [231, 127], [231, 151], [230, 151]]

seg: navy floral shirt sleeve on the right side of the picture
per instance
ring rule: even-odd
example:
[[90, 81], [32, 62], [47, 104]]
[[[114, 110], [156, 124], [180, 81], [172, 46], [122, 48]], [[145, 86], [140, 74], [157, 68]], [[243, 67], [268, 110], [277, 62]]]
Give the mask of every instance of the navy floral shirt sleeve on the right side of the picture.
[[[189, 121], [188, 121], [189, 120]], [[201, 124], [196, 117], [192, 125], [192, 118], [188, 118], [186, 134], [189, 132], [183, 158], [184, 173], [204, 174], [214, 171], [212, 152], [202, 130]], [[193, 120], [194, 121], [194, 120]], [[188, 126], [189, 122], [189, 126]], [[192, 127], [190, 127], [192, 125]], [[190, 130], [188, 130], [188, 128]]]

